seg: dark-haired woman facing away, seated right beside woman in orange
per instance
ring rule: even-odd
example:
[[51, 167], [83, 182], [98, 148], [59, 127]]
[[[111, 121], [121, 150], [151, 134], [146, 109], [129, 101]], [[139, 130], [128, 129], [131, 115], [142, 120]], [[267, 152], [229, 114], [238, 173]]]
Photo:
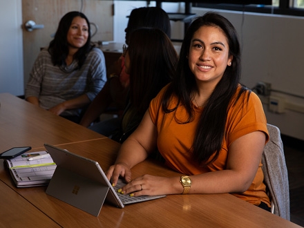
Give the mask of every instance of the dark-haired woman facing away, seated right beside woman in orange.
[[139, 28], [131, 33], [125, 55], [130, 75], [129, 101], [120, 127], [110, 135], [124, 142], [140, 124], [151, 100], [173, 79], [178, 54], [169, 37], [158, 28]]

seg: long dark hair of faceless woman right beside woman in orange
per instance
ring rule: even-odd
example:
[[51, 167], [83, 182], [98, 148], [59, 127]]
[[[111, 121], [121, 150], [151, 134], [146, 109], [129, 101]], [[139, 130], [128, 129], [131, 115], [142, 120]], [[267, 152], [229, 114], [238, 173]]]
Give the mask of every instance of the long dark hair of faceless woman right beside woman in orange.
[[158, 28], [137, 29], [130, 38], [130, 101], [143, 114], [151, 99], [171, 82], [178, 54], [169, 37]]

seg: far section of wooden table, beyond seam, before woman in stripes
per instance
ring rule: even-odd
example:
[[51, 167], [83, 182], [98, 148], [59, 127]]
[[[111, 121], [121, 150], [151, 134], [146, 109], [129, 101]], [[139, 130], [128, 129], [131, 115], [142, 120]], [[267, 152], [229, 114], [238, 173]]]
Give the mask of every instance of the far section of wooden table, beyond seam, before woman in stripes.
[[0, 151], [13, 146], [63, 144], [104, 138], [9, 93], [0, 94]]

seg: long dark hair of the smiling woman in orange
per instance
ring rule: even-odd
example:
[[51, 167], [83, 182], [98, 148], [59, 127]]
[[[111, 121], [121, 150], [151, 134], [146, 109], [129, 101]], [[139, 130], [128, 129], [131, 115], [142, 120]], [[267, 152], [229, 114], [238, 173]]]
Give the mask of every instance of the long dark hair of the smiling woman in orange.
[[[214, 12], [207, 12], [191, 23], [182, 42], [177, 74], [175, 75], [175, 79], [173, 79], [173, 83], [164, 94], [162, 108], [164, 108], [165, 112], [169, 113], [175, 111], [182, 104], [187, 110], [188, 118], [186, 122], [180, 122], [180, 124], [193, 120], [191, 94], [197, 90], [197, 87], [195, 76], [189, 68], [187, 55], [189, 54], [189, 47], [194, 33], [202, 26], [220, 28], [228, 40], [229, 56], [233, 56], [231, 66], [226, 68], [222, 79], [220, 79], [220, 82], [218, 82], [207, 100], [207, 104], [204, 106], [191, 148], [193, 149], [193, 160], [211, 163], [218, 158], [220, 149], [222, 148], [227, 110], [240, 82], [240, 44], [238, 35], [234, 26], [225, 17]], [[247, 88], [242, 87], [236, 101], [245, 91], [247, 91]], [[177, 95], [178, 104], [174, 108], [169, 109], [169, 101], [172, 94]]]

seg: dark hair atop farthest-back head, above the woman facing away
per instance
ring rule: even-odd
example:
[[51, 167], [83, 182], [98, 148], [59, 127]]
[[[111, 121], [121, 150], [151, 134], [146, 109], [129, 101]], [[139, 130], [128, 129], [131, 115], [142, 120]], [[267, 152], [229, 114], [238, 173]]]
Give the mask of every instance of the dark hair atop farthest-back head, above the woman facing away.
[[128, 26], [126, 26], [126, 44], [129, 44], [131, 32], [137, 28], [159, 28], [171, 37], [171, 24], [167, 12], [159, 7], [141, 7], [131, 11]]

